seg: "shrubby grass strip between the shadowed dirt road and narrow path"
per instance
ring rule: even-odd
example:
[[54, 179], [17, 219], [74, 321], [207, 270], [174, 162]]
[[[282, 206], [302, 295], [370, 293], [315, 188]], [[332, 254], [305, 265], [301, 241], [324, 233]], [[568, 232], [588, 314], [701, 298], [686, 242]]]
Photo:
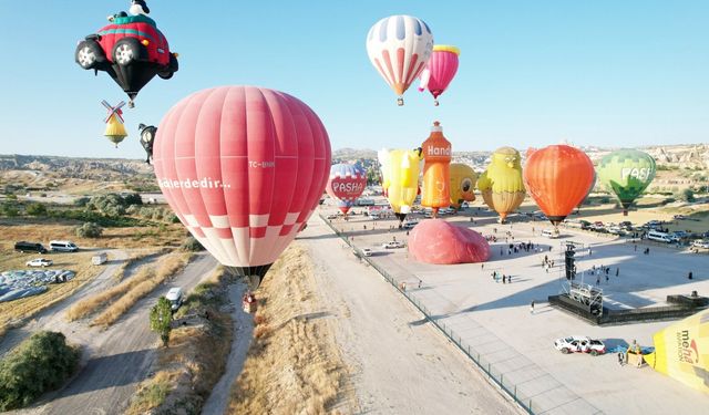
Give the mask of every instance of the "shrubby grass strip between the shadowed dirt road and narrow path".
[[[187, 297], [175, 313], [177, 324], [171, 332], [169, 347], [160, 350], [156, 375], [144, 381], [138, 390], [154, 391], [163, 384], [166, 374], [179, 375], [171, 378], [171, 388], [161, 400], [148, 400], [138, 393], [126, 414], [148, 411], [198, 414], [202, 411], [212, 388], [224, 374], [229, 355], [234, 335], [232, 317], [220, 309], [228, 302], [230, 282], [218, 268]], [[181, 321], [187, 324], [179, 324]]]

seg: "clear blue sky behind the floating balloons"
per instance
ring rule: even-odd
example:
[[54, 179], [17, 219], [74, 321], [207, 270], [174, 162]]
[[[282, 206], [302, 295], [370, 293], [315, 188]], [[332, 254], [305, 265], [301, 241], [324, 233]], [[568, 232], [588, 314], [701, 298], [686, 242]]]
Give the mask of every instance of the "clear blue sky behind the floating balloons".
[[[142, 158], [138, 123], [157, 125], [181, 98], [218, 85], [287, 92], [322, 120], [332, 148], [410, 148], [440, 121], [453, 151], [709, 143], [709, 2], [661, 0], [148, 0], [179, 53], [102, 136], [101, 100], [126, 100], [73, 58], [78, 41], [129, 0], [0, 0], [0, 154]], [[441, 105], [413, 85], [395, 94], [364, 40], [391, 14], [424, 20], [461, 49]]]

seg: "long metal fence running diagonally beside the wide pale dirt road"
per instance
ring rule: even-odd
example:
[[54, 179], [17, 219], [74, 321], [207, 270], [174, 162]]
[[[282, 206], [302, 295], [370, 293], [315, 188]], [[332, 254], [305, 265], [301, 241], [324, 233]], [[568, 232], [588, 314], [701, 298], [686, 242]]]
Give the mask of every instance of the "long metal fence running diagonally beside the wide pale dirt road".
[[[439, 321], [438, 319], [432, 318], [431, 311], [412, 293], [407, 291], [405, 286], [402, 286], [397, 281], [397, 279], [391, 276], [387, 270], [380, 267], [377, 262], [372, 261], [370, 258], [364, 257], [359, 248], [352, 245], [350, 239], [343, 232], [340, 232], [328, 219], [326, 219], [322, 215], [319, 215], [325, 224], [327, 224], [336, 235], [338, 235], [348, 246], [350, 246], [358, 256], [367, 261], [369, 266], [371, 266], [380, 276], [384, 278], [397, 291], [399, 291], [404, 298], [413, 304], [419, 311], [427, 318], [429, 322], [431, 322], [435, 328], [438, 328], [441, 333], [443, 333], [458, 349], [460, 349], [470, 360], [472, 360], [477, 367], [487, 375], [487, 378], [491, 380], [495, 385], [497, 385], [507, 396], [510, 396], [520, 407], [522, 407], [528, 414], [537, 414], [546, 412], [548, 408], [541, 407], [541, 405], [535, 406], [535, 402], [532, 396], [527, 396], [522, 390], [517, 387], [517, 384], [513, 382], [511, 378], [505, 378], [504, 373], [496, 370], [493, 366], [493, 363], [487, 361], [484, 354], [481, 354], [474, 346], [467, 344], [459, 334], [456, 334], [451, 326], [446, 325], [444, 322]], [[593, 408], [593, 407], [592, 407]], [[535, 412], [536, 411], [536, 412]], [[593, 408], [593, 414], [603, 414], [603, 412], [597, 408]]]

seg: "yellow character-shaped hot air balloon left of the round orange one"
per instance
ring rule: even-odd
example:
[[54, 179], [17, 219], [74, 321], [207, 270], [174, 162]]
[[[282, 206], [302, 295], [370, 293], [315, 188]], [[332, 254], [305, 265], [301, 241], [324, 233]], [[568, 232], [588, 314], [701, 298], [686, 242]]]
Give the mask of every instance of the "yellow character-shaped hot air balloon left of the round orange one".
[[512, 147], [497, 148], [487, 169], [480, 175], [477, 188], [485, 205], [500, 214], [500, 222], [504, 224], [507, 215], [524, 201], [520, 152]]

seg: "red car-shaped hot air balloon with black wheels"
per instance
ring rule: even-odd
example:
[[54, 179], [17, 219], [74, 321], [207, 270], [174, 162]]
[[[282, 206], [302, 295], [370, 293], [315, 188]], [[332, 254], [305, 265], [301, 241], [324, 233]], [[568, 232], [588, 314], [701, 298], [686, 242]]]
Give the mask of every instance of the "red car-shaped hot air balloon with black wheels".
[[84, 70], [107, 73], [129, 95], [129, 107], [151, 80], [173, 77], [178, 70], [177, 54], [169, 52], [167, 39], [147, 17], [150, 9], [140, 4], [129, 15], [111, 17], [111, 24], [79, 42], [74, 60]]

